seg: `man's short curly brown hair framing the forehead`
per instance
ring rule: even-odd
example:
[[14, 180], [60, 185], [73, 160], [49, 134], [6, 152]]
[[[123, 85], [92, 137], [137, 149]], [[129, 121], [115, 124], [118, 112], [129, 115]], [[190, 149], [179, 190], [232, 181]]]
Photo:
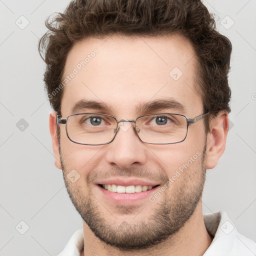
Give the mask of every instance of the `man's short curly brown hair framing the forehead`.
[[[161, 36], [183, 35], [193, 45], [197, 58], [198, 91], [204, 113], [230, 112], [231, 91], [227, 74], [231, 43], [216, 31], [213, 16], [200, 0], [72, 0], [64, 13], [45, 21], [49, 29], [39, 41], [46, 63], [45, 88], [50, 104], [60, 113], [62, 81], [67, 54], [75, 42], [88, 36], [111, 34]], [[208, 131], [209, 117], [205, 118]]]

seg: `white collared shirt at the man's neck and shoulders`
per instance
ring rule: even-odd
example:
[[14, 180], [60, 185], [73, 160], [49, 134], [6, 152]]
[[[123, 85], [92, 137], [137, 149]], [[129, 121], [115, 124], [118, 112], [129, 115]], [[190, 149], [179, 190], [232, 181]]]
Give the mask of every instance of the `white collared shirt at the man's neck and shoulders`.
[[[214, 236], [203, 256], [255, 256], [256, 243], [240, 234], [225, 211], [203, 215], [205, 227]], [[57, 256], [79, 256], [83, 230], [77, 230]], [[86, 251], [85, 251], [86, 255]]]

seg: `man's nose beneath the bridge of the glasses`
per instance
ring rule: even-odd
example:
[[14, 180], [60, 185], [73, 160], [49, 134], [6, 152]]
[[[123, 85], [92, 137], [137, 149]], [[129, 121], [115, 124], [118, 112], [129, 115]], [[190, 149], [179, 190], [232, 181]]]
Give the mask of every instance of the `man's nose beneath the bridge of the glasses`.
[[136, 135], [134, 124], [120, 122], [114, 140], [107, 144], [106, 160], [112, 166], [129, 168], [146, 162], [146, 146]]

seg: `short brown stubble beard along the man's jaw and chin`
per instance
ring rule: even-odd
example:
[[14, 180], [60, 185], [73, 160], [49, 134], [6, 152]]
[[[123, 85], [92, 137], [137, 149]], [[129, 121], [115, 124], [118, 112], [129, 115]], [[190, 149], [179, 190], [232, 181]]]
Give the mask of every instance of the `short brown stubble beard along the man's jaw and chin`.
[[[69, 197], [91, 231], [106, 244], [118, 249], [132, 250], [150, 248], [165, 241], [173, 236], [192, 216], [203, 191], [206, 172], [205, 153], [206, 145], [201, 161], [193, 163], [195, 165], [193, 169], [190, 166], [184, 170], [181, 174], [182, 183], [175, 191], [171, 192], [171, 196], [166, 198], [162, 194], [164, 199], [154, 202], [158, 203], [158, 207], [151, 212], [149, 217], [140, 222], [135, 222], [136, 218], [134, 218], [133, 223], [129, 221], [118, 223], [118, 219], [115, 220], [116, 223], [109, 223], [108, 219], [114, 217], [107, 208], [104, 208], [104, 214], [102, 214], [99, 207], [101, 204], [91, 193], [90, 186], [87, 186], [87, 194], [85, 195], [83, 192], [85, 187], [75, 185], [67, 178], [68, 170], [62, 158], [61, 150], [60, 158]], [[104, 206], [107, 207], [107, 205]], [[123, 214], [132, 214], [136, 210], [136, 207], [132, 205], [130, 207], [120, 206], [119, 208]], [[143, 210], [146, 210], [146, 207]], [[139, 214], [143, 214], [143, 210]], [[105, 214], [110, 214], [110, 218], [107, 218]]]

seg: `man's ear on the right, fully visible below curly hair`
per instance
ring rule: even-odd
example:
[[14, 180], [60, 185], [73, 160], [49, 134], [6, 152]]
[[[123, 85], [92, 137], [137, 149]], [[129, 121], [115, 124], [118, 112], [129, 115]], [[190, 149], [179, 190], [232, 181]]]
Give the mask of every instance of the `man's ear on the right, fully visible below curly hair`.
[[206, 168], [214, 168], [223, 154], [226, 136], [229, 128], [228, 114], [220, 111], [209, 123], [210, 131], [207, 134]]

